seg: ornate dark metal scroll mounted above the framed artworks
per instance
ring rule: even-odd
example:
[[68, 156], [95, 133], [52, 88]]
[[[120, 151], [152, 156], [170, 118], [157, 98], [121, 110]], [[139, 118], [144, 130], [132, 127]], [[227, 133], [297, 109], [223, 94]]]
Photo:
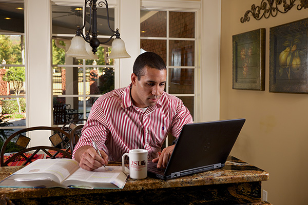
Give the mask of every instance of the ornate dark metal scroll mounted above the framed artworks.
[[[241, 17], [241, 23], [249, 22], [249, 14], [251, 14], [255, 19], [260, 20], [262, 17], [275, 17], [279, 12], [286, 13], [295, 6], [296, 1], [297, 0], [262, 0], [260, 6], [253, 4], [251, 10], [246, 11], [244, 16]], [[299, 1], [300, 3], [296, 6], [297, 10], [308, 8], [308, 0]]]

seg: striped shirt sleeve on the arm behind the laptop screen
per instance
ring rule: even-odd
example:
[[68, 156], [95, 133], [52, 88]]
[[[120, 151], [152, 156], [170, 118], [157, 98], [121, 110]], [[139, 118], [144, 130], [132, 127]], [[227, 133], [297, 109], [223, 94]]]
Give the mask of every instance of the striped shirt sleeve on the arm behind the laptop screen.
[[184, 125], [192, 123], [192, 116], [183, 104], [180, 98], [171, 99], [171, 105], [174, 105], [174, 116], [171, 122], [171, 134], [178, 138]]

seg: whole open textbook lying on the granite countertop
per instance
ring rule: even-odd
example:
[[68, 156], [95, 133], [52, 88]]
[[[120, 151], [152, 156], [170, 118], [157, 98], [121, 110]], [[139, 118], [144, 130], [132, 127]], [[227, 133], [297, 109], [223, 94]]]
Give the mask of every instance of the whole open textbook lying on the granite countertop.
[[37, 159], [1, 181], [0, 187], [122, 189], [126, 180], [122, 167], [86, 171], [73, 159]]

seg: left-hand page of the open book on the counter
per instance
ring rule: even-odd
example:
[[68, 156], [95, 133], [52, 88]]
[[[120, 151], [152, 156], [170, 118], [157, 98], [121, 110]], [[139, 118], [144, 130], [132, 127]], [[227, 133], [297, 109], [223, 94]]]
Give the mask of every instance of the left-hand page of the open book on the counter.
[[44, 174], [52, 174], [57, 178], [56, 181], [61, 183], [78, 168], [78, 161], [73, 159], [37, 159], [17, 171], [14, 178], [17, 181], [44, 180], [48, 178], [55, 180], [50, 175], [44, 176]]

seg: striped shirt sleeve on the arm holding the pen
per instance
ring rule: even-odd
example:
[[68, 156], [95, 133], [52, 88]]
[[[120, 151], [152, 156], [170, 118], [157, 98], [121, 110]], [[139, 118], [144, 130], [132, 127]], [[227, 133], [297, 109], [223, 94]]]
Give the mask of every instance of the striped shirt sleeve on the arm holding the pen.
[[107, 128], [106, 118], [104, 110], [101, 104], [94, 104], [91, 108], [91, 112], [86, 121], [85, 126], [82, 129], [82, 135], [79, 138], [77, 144], [72, 153], [72, 159], [75, 159], [75, 152], [80, 147], [89, 145], [93, 146], [92, 140], [95, 141], [99, 150], [102, 150], [108, 134], [110, 133]]

